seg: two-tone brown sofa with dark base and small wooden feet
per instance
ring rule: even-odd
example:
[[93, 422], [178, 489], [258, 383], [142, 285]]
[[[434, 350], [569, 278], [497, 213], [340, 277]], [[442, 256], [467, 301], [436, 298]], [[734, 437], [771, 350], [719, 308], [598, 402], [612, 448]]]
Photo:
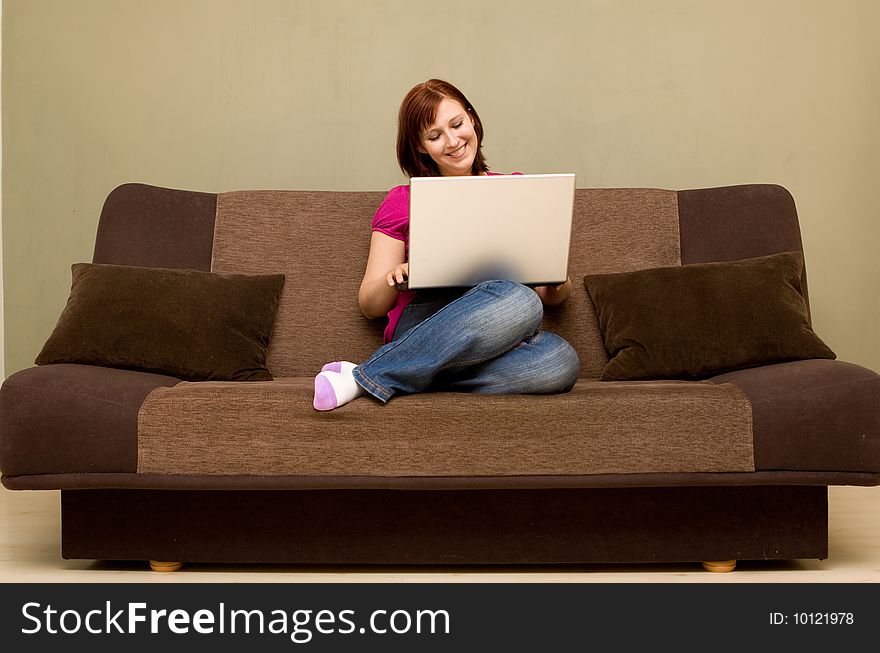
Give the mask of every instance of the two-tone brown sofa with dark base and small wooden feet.
[[[384, 194], [127, 183], [107, 196], [88, 265], [283, 284], [267, 304], [257, 374], [175, 376], [137, 360], [44, 351], [41, 364], [5, 380], [2, 482], [60, 490], [63, 558], [143, 560], [154, 570], [694, 562], [730, 571], [738, 560], [826, 558], [828, 487], [880, 483], [880, 376], [837, 360], [811, 331], [802, 263], [785, 291], [797, 293], [806, 316], [798, 328], [819, 354], [606, 373], [617, 358], [607, 332], [616, 307], [600, 306], [607, 296], [589, 284], [802, 256], [795, 202], [772, 184], [575, 191], [573, 290], [545, 309], [543, 324], [580, 358], [569, 392], [429, 392], [386, 405], [362, 397], [315, 411], [322, 365], [364, 360], [382, 342], [384, 320], [364, 318], [356, 297]], [[661, 308], [687, 294], [663, 288]], [[752, 304], [749, 294], [727, 299]], [[713, 301], [700, 299], [704, 308]], [[72, 295], [64, 311], [74, 303]], [[146, 306], [119, 346], [136, 348], [147, 337], [137, 334], [149, 333], [141, 323], [173, 320], [188, 305]], [[59, 318], [53, 337], [65, 320], [66, 335], [85, 329], [71, 319]], [[196, 348], [192, 332], [174, 337], [174, 356]], [[665, 353], [712, 357], [685, 339]]]

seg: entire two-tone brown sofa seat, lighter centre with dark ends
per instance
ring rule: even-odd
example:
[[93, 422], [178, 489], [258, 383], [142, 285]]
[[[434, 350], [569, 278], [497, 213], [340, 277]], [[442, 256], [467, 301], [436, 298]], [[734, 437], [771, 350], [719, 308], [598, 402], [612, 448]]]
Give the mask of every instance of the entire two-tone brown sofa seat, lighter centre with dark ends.
[[[30, 478], [23, 487], [137, 471], [729, 478], [718, 470], [751, 471], [752, 447], [765, 474], [880, 470], [880, 376], [842, 361], [702, 383], [581, 380], [547, 397], [426, 394], [384, 407], [362, 398], [330, 413], [314, 411], [311, 396], [311, 378], [181, 383], [92, 365], [31, 368], [0, 390], [0, 464], [5, 479]], [[736, 435], [744, 425], [748, 439]]]

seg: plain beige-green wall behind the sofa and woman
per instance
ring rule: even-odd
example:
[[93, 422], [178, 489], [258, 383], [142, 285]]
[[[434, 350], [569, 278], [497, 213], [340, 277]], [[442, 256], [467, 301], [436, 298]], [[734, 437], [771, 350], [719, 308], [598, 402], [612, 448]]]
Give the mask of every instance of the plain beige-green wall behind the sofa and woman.
[[880, 370], [878, 5], [5, 0], [6, 372], [115, 186], [387, 188], [400, 99], [431, 76], [470, 96], [500, 171], [787, 187], [817, 332]]

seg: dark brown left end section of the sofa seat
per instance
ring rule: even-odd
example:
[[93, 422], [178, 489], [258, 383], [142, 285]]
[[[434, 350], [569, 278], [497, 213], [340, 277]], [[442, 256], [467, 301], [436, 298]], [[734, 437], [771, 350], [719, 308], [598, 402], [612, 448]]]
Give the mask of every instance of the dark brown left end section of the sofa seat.
[[144, 398], [180, 379], [97, 365], [44, 365], [0, 390], [0, 468], [7, 476], [134, 472]]

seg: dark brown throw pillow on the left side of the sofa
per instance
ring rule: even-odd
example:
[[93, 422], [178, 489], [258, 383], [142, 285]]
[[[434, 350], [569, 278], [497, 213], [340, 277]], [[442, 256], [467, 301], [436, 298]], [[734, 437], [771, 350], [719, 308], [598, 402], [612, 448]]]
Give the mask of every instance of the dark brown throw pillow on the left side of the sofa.
[[37, 365], [85, 363], [188, 381], [268, 381], [283, 274], [75, 263]]

